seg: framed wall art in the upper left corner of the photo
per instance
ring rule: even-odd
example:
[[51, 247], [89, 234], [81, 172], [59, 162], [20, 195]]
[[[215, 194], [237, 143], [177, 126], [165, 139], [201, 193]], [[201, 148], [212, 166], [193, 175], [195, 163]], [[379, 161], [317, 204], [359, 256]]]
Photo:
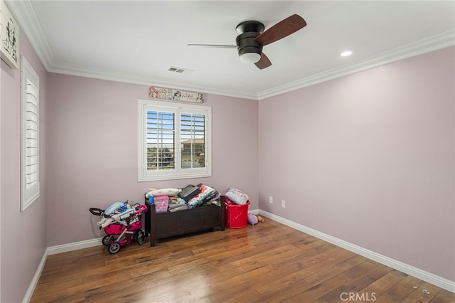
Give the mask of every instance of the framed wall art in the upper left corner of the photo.
[[18, 68], [19, 65], [19, 27], [13, 16], [0, 0], [0, 55], [10, 68]]

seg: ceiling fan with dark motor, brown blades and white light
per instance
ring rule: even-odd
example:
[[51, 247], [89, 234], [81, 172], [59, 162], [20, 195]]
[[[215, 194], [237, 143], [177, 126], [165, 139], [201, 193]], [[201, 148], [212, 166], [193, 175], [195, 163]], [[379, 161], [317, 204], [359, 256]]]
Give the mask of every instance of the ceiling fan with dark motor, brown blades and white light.
[[188, 44], [188, 46], [237, 48], [242, 62], [255, 63], [257, 68], [262, 70], [272, 65], [267, 55], [262, 53], [262, 47], [287, 37], [305, 26], [306, 21], [297, 14], [279, 21], [271, 28], [268, 28], [267, 31], [264, 31], [264, 24], [259, 21], [243, 21], [235, 28], [238, 33], [237, 38], [235, 38], [235, 46], [219, 44]]

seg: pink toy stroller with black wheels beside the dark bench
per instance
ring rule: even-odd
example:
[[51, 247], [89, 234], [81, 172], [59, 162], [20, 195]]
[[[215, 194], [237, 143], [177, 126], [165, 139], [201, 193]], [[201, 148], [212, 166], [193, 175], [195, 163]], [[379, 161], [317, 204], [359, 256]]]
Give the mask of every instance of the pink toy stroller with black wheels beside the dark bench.
[[104, 227], [107, 233], [102, 238], [102, 244], [108, 246], [107, 250], [111, 254], [119, 252], [120, 247], [132, 243], [133, 240], [139, 245], [144, 244], [145, 233], [142, 230], [141, 214], [147, 211], [147, 206], [136, 204], [127, 208], [127, 202], [110, 214], [100, 208], [90, 208], [92, 215], [102, 218], [98, 225], [100, 229]]

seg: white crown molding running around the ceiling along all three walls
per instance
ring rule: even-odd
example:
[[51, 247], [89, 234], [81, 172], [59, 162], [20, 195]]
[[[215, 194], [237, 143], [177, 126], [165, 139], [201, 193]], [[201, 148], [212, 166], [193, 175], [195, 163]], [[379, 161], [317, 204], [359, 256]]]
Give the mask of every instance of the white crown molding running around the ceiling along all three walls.
[[[154, 79], [147, 78], [144, 75], [126, 75], [124, 73], [114, 73], [106, 70], [96, 70], [93, 68], [87, 68], [85, 66], [78, 65], [68, 65], [64, 63], [55, 62], [55, 58], [48, 46], [48, 43], [45, 39], [43, 31], [38, 23], [38, 19], [33, 11], [31, 6], [31, 1], [9, 1], [9, 9], [11, 13], [16, 18], [21, 30], [26, 34], [28, 40], [30, 41], [33, 49], [35, 50], [38, 58], [40, 58], [41, 63], [43, 63], [44, 68], [50, 73], [60, 73], [65, 75], [76, 75], [80, 77], [95, 78], [102, 80], [112, 80], [123, 83], [133, 83], [139, 85], [156, 85], [164, 87], [175, 87], [176, 84], [172, 83], [160, 83]], [[273, 97], [276, 95], [282, 95], [286, 92], [291, 92], [293, 90], [299, 90], [304, 87], [315, 85], [318, 83], [323, 83], [328, 80], [333, 80], [335, 78], [340, 78], [345, 75], [350, 75], [353, 73], [358, 73], [363, 70], [368, 70], [370, 68], [375, 68], [380, 65], [385, 65], [392, 63], [398, 60], [403, 60], [406, 58], [411, 58], [415, 55], [422, 55], [424, 53], [429, 53], [434, 50], [439, 50], [449, 46], [455, 45], [455, 29], [440, 33], [439, 35], [432, 36], [429, 38], [416, 41], [414, 43], [407, 44], [406, 46], [401, 46], [399, 48], [393, 48], [392, 50], [387, 50], [384, 53], [375, 55], [365, 60], [357, 61], [349, 65], [343, 65], [339, 68], [333, 68], [331, 70], [325, 70], [321, 73], [311, 75], [300, 80], [293, 81], [284, 85], [279, 85], [277, 87], [272, 87], [269, 90], [264, 90], [262, 92], [255, 93], [246, 93], [246, 92], [228, 92], [223, 90], [214, 90], [208, 87], [182, 87], [178, 85], [182, 90], [197, 90], [199, 92], [205, 92], [213, 95], [223, 95], [228, 97], [239, 97], [244, 99], [251, 100], [262, 100], [268, 97]]]

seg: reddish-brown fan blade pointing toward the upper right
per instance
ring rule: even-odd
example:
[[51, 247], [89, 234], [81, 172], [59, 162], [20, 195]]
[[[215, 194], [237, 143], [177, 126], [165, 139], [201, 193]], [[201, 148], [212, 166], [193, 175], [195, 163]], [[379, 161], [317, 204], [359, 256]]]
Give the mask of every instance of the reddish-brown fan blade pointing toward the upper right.
[[294, 14], [285, 18], [282, 21], [279, 21], [277, 24], [271, 28], [261, 33], [255, 38], [255, 41], [262, 46], [267, 46], [267, 44], [273, 43], [289, 36], [291, 33], [299, 31], [299, 29], [306, 26], [306, 21], [301, 16]]

